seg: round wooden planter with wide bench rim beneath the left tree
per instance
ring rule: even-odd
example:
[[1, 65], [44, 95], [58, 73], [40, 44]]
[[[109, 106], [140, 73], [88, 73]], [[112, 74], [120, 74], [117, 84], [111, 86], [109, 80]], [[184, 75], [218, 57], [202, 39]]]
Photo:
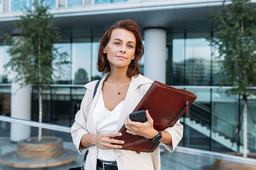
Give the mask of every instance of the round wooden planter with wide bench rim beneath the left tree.
[[61, 138], [44, 136], [19, 141], [17, 151], [6, 153], [0, 162], [6, 166], [36, 168], [60, 166], [76, 160], [77, 153], [65, 150]]

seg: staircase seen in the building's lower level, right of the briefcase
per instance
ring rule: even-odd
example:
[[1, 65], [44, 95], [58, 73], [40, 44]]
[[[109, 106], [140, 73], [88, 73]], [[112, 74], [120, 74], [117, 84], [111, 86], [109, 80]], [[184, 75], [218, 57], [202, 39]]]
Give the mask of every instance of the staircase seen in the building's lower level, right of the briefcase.
[[[212, 111], [211, 115], [209, 104], [193, 103], [189, 108], [189, 117], [186, 117], [184, 122], [196, 131], [226, 146], [230, 150], [237, 152], [236, 127], [238, 123], [214, 111]], [[212, 129], [210, 129], [211, 122]], [[243, 131], [243, 129], [241, 129], [241, 131]], [[253, 139], [256, 139], [256, 134], [248, 130], [248, 136], [250, 135], [251, 137], [253, 136]], [[241, 136], [241, 138], [243, 138], [243, 136]], [[243, 146], [240, 146], [239, 150], [242, 151]], [[250, 152], [255, 153], [254, 140], [251, 143], [248, 141], [248, 153]]]

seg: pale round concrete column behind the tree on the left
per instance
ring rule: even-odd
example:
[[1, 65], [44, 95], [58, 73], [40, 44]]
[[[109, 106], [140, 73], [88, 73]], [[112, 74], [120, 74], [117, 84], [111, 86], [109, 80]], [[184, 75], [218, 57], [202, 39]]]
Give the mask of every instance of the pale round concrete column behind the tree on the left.
[[[19, 37], [15, 37], [19, 38]], [[12, 80], [17, 76], [13, 71]], [[11, 117], [31, 120], [31, 85], [20, 87], [22, 81], [14, 82], [11, 85]], [[11, 124], [11, 141], [19, 141], [30, 137], [30, 126]]]

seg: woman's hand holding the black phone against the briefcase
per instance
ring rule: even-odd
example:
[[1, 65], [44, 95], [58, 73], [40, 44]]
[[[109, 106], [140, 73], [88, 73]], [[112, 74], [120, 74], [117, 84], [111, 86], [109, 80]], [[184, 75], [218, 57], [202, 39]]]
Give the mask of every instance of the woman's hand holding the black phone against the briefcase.
[[146, 110], [147, 122], [132, 122], [129, 118], [125, 118], [126, 132], [133, 135], [143, 136], [148, 139], [154, 138], [158, 132], [153, 127], [154, 120], [150, 117], [148, 110]]

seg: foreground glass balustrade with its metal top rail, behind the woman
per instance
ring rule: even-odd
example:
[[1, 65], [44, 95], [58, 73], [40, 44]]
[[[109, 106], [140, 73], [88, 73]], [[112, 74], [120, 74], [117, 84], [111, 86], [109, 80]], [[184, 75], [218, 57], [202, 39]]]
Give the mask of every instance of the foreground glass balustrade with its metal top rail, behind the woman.
[[[38, 139], [38, 128], [42, 128], [43, 136], [39, 145], [44, 143], [48, 147], [44, 152], [42, 150], [38, 152], [36, 147], [33, 148], [31, 145]], [[54, 148], [55, 145], [59, 147]], [[256, 168], [256, 159], [182, 146], [178, 146], [173, 153], [168, 152], [162, 144], [160, 148], [161, 169], [163, 170]], [[48, 151], [52, 150], [55, 154], [49, 155]], [[35, 152], [37, 152], [36, 155]], [[40, 160], [38, 155], [44, 160]], [[50, 157], [50, 159], [45, 159], [45, 157]], [[81, 166], [82, 160], [83, 155], [77, 152], [72, 143], [70, 127], [0, 116], [0, 169], [22, 169], [19, 166], [23, 166], [24, 169], [28, 166], [28, 162], [30, 167], [34, 166], [35, 169], [37, 166], [38, 170], [45, 169], [45, 167], [40, 167], [42, 162], [44, 166], [49, 166], [47, 169], [68, 169]]]

